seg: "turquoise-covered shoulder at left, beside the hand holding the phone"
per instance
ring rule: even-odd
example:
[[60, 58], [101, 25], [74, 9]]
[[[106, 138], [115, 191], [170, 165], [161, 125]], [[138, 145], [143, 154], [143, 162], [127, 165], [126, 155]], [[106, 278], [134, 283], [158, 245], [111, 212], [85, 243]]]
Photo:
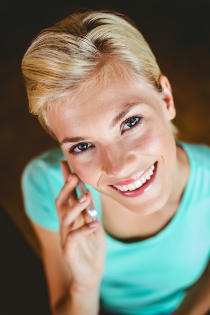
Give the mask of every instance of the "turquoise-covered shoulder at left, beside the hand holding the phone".
[[59, 229], [54, 200], [63, 185], [60, 162], [64, 159], [61, 148], [47, 150], [28, 162], [21, 178], [26, 214], [51, 230]]

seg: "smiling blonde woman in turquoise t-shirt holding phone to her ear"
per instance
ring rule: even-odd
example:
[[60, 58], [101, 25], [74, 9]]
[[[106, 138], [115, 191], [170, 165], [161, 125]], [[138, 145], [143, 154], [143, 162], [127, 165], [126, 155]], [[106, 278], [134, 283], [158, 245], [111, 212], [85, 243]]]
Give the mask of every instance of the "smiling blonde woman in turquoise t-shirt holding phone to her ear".
[[60, 144], [23, 174], [52, 313], [205, 314], [210, 148], [175, 140], [170, 83], [134, 23], [76, 12], [38, 34], [22, 71]]

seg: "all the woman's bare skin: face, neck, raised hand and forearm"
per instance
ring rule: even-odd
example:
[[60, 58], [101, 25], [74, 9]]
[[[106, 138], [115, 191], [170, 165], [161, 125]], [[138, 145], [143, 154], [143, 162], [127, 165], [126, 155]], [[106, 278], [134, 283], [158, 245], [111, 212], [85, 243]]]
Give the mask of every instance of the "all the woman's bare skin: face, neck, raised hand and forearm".
[[[168, 224], [179, 206], [189, 165], [169, 125], [176, 114], [170, 84], [165, 76], [160, 82], [161, 93], [144, 82], [110, 76], [104, 87], [84, 86], [48, 112], [67, 162], [100, 192], [103, 210], [103, 227], [84, 223], [82, 211], [91, 196], [77, 199], [78, 178], [63, 161], [65, 184], [55, 201], [60, 232], [32, 223], [41, 242], [53, 314], [98, 314], [104, 228], [120, 239], [149, 238]], [[139, 190], [121, 193], [113, 187], [133, 182], [152, 165], [151, 181]], [[194, 314], [188, 300], [182, 306], [185, 315]]]

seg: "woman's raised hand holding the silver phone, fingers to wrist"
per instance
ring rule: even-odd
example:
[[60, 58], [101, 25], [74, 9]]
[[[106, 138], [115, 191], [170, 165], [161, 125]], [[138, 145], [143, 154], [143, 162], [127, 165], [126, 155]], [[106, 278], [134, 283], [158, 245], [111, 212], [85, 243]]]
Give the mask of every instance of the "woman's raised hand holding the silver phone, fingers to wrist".
[[55, 205], [60, 222], [63, 256], [72, 273], [77, 290], [90, 290], [99, 285], [105, 259], [105, 235], [98, 221], [85, 223], [83, 210], [91, 201], [86, 194], [77, 199], [76, 174], [71, 174], [66, 162], [61, 162], [65, 184]]

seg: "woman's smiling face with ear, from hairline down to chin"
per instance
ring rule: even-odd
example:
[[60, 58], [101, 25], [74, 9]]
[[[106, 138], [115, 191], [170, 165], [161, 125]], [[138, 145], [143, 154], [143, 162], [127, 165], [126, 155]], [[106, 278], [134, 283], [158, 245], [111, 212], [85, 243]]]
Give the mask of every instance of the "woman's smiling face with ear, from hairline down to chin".
[[161, 209], [174, 189], [175, 117], [170, 86], [110, 78], [48, 113], [50, 127], [78, 176], [137, 213]]

